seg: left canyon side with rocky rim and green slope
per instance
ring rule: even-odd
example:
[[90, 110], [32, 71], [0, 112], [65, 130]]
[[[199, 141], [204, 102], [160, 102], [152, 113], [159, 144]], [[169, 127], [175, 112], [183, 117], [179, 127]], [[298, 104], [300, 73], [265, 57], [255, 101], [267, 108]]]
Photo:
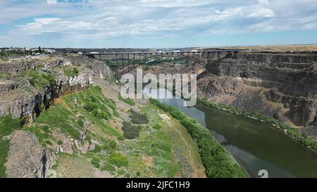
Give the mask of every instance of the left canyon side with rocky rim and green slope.
[[185, 127], [120, 98], [104, 63], [73, 55], [0, 66], [0, 177], [206, 177]]

